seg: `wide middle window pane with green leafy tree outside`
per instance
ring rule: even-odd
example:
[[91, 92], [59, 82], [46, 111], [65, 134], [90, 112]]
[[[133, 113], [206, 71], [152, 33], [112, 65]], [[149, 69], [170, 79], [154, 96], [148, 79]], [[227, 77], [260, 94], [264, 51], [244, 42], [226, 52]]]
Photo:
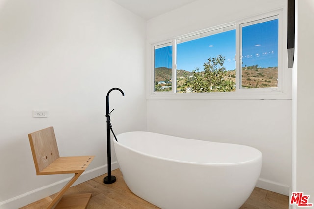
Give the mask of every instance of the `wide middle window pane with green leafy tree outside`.
[[193, 37], [178, 40], [177, 93], [235, 91], [235, 26]]

